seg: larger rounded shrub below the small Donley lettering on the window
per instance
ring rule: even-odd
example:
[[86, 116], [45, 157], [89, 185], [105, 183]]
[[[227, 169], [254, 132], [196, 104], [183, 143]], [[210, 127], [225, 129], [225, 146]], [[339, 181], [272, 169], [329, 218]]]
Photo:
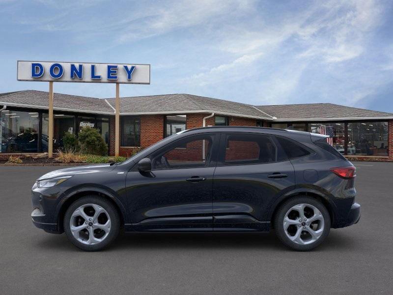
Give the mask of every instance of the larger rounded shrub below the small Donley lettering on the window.
[[93, 155], [105, 155], [108, 147], [97, 129], [84, 127], [79, 132], [79, 143], [81, 152]]

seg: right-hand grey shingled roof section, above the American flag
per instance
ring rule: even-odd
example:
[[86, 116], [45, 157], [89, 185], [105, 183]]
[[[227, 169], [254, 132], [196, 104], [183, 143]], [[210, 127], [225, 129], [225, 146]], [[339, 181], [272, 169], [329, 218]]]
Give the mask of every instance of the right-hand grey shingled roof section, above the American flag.
[[270, 105], [256, 106], [256, 108], [281, 120], [393, 118], [393, 114], [390, 113], [346, 107], [332, 103]]

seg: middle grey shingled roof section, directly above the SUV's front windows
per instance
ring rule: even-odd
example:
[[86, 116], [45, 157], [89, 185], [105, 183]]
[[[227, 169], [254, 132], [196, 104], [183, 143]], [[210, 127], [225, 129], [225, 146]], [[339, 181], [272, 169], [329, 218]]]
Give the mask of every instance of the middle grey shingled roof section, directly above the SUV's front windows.
[[[114, 107], [115, 99], [108, 102]], [[270, 119], [252, 105], [191, 94], [122, 97], [121, 114], [216, 113], [227, 116]]]

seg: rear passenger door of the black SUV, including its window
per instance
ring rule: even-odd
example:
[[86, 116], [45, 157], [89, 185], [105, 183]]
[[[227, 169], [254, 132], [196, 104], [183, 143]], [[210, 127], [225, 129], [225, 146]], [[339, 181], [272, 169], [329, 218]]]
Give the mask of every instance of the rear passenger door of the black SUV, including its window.
[[214, 173], [214, 230], [268, 229], [269, 205], [294, 187], [293, 166], [274, 137], [223, 134]]

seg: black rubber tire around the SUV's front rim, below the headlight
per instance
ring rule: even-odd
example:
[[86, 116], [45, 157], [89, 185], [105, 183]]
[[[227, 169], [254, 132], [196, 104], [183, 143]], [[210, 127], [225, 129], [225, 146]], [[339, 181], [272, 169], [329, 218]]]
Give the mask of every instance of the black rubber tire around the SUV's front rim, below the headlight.
[[[78, 209], [79, 207], [85, 204], [96, 204], [100, 207], [103, 207], [108, 212], [111, 219], [111, 229], [108, 236], [98, 244], [94, 244], [94, 245], [84, 244], [78, 241], [71, 233], [71, 229], [70, 229], [71, 216], [76, 209]], [[109, 246], [109, 244], [111, 244], [118, 236], [120, 231], [120, 217], [116, 208], [111, 203], [111, 201], [103, 197], [89, 195], [76, 200], [74, 203], [71, 204], [70, 207], [68, 207], [64, 215], [63, 225], [64, 225], [64, 232], [66, 236], [71, 241], [71, 243], [73, 243], [75, 246], [77, 246], [78, 248], [84, 251], [98, 251]]]

